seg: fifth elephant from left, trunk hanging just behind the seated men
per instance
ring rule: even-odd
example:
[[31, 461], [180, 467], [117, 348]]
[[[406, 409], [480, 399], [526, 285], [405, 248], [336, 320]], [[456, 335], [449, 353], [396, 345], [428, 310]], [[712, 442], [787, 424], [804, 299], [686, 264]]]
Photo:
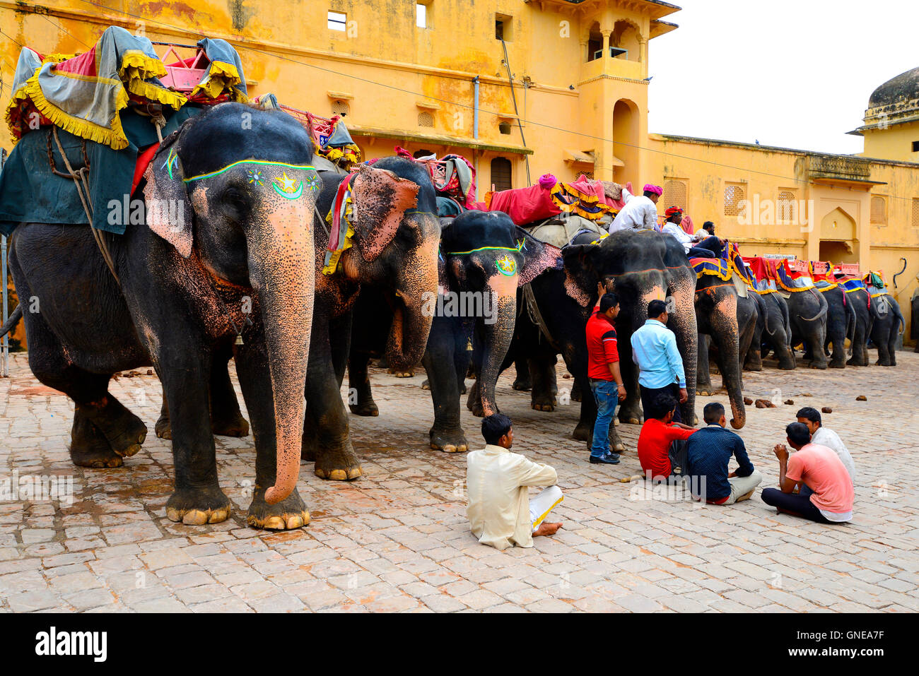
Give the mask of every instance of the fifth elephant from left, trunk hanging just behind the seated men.
[[756, 299], [752, 293], [745, 299], [739, 296], [731, 281], [702, 275], [696, 284], [694, 305], [699, 336], [696, 393], [706, 397], [714, 393], [709, 376], [710, 342], [716, 348], [721, 379], [731, 402], [731, 426], [739, 430], [746, 423], [741, 355], [745, 357], [753, 341], [759, 316]]

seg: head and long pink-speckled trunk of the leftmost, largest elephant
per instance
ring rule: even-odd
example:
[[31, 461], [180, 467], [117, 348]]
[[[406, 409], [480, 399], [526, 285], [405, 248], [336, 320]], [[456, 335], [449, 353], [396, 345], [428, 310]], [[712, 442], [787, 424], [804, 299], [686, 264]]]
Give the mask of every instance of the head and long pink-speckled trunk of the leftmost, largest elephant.
[[312, 141], [289, 115], [227, 103], [165, 139], [145, 175], [148, 226], [187, 259], [187, 269], [210, 279], [188, 288], [189, 298], [203, 299], [216, 313], [215, 286], [254, 291], [260, 316], [253, 319], [264, 328], [259, 349], [276, 418], [269, 503], [289, 495], [300, 471], [314, 282], [311, 221], [322, 186], [311, 161]]

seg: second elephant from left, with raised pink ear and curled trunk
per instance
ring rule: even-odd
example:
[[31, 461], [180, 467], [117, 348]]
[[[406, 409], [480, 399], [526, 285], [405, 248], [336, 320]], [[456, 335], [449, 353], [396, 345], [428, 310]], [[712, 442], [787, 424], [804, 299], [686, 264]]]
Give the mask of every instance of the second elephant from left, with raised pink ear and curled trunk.
[[[330, 213], [334, 204], [346, 205], [339, 187], [352, 178], [353, 245], [344, 249], [334, 274], [322, 272], [330, 237], [326, 225], [317, 218], [315, 226], [316, 297], [302, 459], [314, 461], [313, 471], [322, 479], [357, 479], [362, 474], [340, 394], [359, 292], [375, 287], [391, 307], [385, 353], [396, 371], [410, 370], [421, 361], [433, 320], [425, 311], [425, 299], [437, 296], [440, 222], [431, 176], [403, 157], [360, 165], [347, 178], [325, 174], [317, 201], [320, 214]], [[336, 199], [340, 192], [341, 200]]]

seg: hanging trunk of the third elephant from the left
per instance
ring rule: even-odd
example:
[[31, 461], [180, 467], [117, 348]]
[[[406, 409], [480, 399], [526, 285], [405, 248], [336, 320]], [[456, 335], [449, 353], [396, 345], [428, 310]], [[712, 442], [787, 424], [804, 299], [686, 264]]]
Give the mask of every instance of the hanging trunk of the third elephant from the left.
[[498, 412], [494, 385], [514, 337], [516, 285], [516, 275], [502, 274], [491, 276], [485, 285], [485, 298], [482, 299], [484, 350], [479, 374], [479, 395], [482, 397], [483, 415], [486, 416]]

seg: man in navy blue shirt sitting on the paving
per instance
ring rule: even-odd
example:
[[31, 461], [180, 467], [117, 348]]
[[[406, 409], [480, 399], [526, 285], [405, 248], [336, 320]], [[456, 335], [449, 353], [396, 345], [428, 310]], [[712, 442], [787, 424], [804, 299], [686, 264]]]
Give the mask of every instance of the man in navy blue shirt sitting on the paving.
[[[763, 480], [747, 456], [743, 439], [726, 429], [724, 407], [717, 401], [706, 404], [702, 411], [706, 427], [698, 430], [686, 442], [689, 485], [696, 500], [709, 504], [733, 504], [749, 500]], [[728, 473], [728, 463], [734, 456], [737, 469]]]

